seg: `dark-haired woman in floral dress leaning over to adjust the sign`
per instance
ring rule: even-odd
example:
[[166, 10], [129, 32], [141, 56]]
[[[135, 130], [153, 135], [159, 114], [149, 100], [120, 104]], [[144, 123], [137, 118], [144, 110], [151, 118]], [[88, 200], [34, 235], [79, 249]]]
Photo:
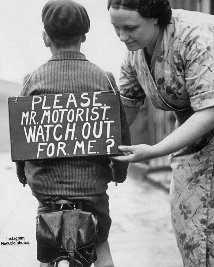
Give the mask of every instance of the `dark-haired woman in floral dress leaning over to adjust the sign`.
[[173, 110], [176, 130], [156, 145], [119, 146], [119, 161], [170, 155], [172, 224], [184, 266], [214, 266], [214, 18], [167, 0], [109, 0], [127, 46], [120, 90], [130, 124], [145, 97]]

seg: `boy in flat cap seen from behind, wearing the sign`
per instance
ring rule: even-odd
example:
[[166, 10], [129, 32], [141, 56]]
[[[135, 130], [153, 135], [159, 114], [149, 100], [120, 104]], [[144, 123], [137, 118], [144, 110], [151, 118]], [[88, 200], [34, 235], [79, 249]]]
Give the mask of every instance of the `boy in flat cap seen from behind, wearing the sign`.
[[[42, 10], [45, 31], [42, 37], [50, 48], [51, 59], [24, 79], [20, 96], [81, 93], [112, 90], [98, 66], [80, 53], [90, 20], [85, 8], [72, 0], [52, 0]], [[111, 73], [108, 77], [116, 89]], [[130, 144], [130, 133], [122, 104], [121, 135], [123, 145]], [[38, 214], [50, 212], [50, 203], [81, 201], [83, 211], [98, 218], [97, 260], [95, 267], [113, 266], [108, 244], [111, 226], [106, 189], [111, 181], [124, 182], [127, 163], [111, 161], [107, 156], [84, 156], [17, 163], [20, 182], [31, 187], [39, 201]], [[62, 202], [61, 202], [62, 201]], [[40, 263], [40, 266], [51, 266]]]

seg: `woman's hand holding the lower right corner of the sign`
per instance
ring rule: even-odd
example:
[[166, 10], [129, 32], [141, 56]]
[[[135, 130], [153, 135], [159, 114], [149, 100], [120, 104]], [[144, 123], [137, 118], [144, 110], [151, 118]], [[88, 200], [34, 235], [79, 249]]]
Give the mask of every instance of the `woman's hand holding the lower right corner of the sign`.
[[118, 149], [123, 152], [123, 156], [110, 157], [117, 161], [137, 163], [148, 161], [156, 157], [153, 146], [141, 144], [135, 146], [119, 146]]

